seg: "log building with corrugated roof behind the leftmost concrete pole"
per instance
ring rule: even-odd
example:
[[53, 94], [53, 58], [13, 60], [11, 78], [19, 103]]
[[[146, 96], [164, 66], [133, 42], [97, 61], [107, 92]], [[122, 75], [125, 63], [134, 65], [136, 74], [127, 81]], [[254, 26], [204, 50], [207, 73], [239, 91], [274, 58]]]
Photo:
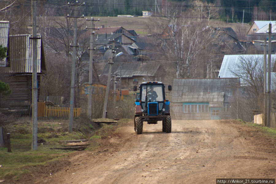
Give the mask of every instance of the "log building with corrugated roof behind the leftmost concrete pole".
[[[1, 30], [0, 30], [1, 32]], [[12, 90], [7, 101], [32, 101], [33, 39], [32, 35], [11, 35], [8, 41], [6, 67], [0, 67], [7, 74], [6, 80]], [[46, 63], [41, 35], [37, 34], [37, 82], [40, 94], [41, 76], [46, 74]]]

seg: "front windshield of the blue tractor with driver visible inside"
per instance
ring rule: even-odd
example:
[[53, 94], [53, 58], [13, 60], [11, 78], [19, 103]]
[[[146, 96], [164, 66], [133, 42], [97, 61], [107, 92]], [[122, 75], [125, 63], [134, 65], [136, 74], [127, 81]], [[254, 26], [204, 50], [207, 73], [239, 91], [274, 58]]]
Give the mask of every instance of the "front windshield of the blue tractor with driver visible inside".
[[[141, 101], [146, 100], [146, 89], [147, 86], [142, 87]], [[148, 85], [148, 102], [163, 102], [163, 87], [162, 85]]]

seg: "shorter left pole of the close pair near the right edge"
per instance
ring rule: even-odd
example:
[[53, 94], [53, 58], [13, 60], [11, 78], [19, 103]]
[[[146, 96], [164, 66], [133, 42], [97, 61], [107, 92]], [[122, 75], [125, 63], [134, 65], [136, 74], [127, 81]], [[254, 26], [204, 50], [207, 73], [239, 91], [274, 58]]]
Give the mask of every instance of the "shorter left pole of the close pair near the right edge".
[[267, 117], [267, 81], [266, 81], [266, 38], [264, 39], [263, 42], [263, 95], [264, 95], [264, 100], [263, 100], [263, 124], [266, 126], [266, 117]]

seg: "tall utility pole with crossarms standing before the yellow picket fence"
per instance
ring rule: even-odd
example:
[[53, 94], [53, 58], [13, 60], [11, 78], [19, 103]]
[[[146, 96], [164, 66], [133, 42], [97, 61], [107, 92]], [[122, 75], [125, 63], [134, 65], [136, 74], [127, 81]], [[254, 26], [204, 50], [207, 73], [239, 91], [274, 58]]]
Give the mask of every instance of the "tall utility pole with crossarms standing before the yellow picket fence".
[[[78, 1], [76, 1], [78, 3]], [[72, 4], [73, 6], [81, 6], [78, 4]], [[84, 3], [83, 3], [84, 5]], [[69, 112], [69, 126], [68, 126], [68, 132], [73, 131], [73, 117], [74, 117], [74, 95], [75, 95], [75, 71], [76, 71], [76, 48], [77, 48], [77, 18], [83, 18], [84, 16], [82, 15], [81, 17], [76, 17], [77, 16], [77, 11], [74, 10], [74, 41], [73, 41], [73, 59], [72, 59], [72, 73], [71, 73], [71, 92], [70, 92], [70, 112]], [[70, 17], [69, 14], [67, 17]]]

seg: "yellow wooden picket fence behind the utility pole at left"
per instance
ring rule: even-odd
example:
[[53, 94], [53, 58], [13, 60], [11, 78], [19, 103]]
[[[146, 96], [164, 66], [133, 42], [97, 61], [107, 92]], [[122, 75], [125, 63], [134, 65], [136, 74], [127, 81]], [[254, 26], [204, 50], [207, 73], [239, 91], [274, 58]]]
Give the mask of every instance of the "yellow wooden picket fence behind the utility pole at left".
[[[55, 107], [55, 106], [45, 106], [44, 116], [48, 117], [64, 117], [69, 116], [69, 107]], [[74, 108], [73, 117], [79, 117], [81, 114], [81, 108]]]

